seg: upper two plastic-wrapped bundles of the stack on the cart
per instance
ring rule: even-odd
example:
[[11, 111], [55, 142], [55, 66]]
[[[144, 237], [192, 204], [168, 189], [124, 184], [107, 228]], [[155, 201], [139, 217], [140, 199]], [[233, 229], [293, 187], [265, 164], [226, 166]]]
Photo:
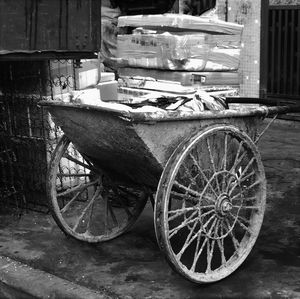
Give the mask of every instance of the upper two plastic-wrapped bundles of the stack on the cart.
[[118, 26], [137, 28], [118, 36], [118, 57], [130, 67], [197, 72], [238, 69], [241, 25], [165, 14], [120, 17]]

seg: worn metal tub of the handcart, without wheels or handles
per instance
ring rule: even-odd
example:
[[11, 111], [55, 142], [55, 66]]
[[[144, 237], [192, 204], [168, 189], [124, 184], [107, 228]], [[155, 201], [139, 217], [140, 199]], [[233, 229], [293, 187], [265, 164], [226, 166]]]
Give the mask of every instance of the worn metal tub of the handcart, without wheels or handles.
[[213, 125], [232, 124], [251, 138], [265, 108], [198, 113], [142, 113], [90, 105], [42, 102], [54, 122], [95, 165], [111, 178], [156, 188], [175, 148], [193, 132]]

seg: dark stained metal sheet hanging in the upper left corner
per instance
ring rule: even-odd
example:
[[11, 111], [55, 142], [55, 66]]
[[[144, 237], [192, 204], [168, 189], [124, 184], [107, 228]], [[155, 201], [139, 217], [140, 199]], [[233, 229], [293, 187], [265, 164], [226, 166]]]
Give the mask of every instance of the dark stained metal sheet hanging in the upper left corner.
[[100, 0], [0, 0], [0, 54], [97, 52]]

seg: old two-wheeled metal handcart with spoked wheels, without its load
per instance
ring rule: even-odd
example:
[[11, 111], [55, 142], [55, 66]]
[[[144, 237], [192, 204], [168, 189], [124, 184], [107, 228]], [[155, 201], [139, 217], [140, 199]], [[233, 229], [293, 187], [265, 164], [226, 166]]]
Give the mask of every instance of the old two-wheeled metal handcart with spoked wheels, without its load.
[[47, 180], [58, 226], [81, 241], [111, 240], [155, 193], [156, 238], [171, 266], [196, 283], [233, 273], [255, 244], [266, 206], [259, 126], [300, 107], [227, 101], [264, 106], [142, 113], [41, 102], [64, 132]]

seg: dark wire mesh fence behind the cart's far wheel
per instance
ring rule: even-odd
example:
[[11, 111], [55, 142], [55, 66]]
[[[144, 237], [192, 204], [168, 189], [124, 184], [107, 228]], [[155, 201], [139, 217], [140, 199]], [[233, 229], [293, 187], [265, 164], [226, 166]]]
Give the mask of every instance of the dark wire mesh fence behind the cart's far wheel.
[[0, 62], [0, 208], [47, 211], [47, 164], [61, 131], [38, 106], [76, 89], [71, 60]]

